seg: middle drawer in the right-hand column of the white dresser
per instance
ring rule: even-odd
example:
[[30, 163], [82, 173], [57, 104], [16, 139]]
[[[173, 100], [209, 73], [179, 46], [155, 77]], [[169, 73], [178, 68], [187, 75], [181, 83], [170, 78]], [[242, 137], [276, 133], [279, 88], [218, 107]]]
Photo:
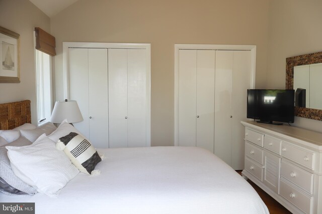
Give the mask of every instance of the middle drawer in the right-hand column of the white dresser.
[[281, 176], [313, 194], [313, 174], [282, 160]]

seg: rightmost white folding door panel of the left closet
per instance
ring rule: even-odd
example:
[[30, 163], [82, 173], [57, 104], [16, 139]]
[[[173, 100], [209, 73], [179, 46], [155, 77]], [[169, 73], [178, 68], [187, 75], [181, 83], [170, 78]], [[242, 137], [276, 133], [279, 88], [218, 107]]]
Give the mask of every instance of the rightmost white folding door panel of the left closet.
[[146, 146], [145, 50], [127, 50], [128, 147]]

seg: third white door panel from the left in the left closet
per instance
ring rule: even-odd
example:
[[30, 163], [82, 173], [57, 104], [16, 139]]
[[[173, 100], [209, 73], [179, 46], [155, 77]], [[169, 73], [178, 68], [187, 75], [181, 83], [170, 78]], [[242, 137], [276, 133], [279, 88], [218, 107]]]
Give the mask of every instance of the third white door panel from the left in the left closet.
[[109, 144], [127, 147], [127, 49], [108, 50]]

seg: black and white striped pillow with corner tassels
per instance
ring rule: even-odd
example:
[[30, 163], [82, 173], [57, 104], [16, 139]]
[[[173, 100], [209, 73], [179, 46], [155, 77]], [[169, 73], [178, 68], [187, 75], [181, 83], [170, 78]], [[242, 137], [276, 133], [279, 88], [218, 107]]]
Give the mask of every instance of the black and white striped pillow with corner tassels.
[[102, 160], [90, 141], [75, 132], [59, 138], [56, 148], [63, 150], [79, 171], [86, 174], [91, 174]]

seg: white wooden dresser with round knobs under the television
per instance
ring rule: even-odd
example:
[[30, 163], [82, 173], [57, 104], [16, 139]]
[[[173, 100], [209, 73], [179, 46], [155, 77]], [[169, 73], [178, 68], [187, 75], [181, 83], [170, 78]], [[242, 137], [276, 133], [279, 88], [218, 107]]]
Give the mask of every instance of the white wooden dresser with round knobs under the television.
[[242, 174], [293, 213], [322, 213], [322, 133], [241, 121]]

